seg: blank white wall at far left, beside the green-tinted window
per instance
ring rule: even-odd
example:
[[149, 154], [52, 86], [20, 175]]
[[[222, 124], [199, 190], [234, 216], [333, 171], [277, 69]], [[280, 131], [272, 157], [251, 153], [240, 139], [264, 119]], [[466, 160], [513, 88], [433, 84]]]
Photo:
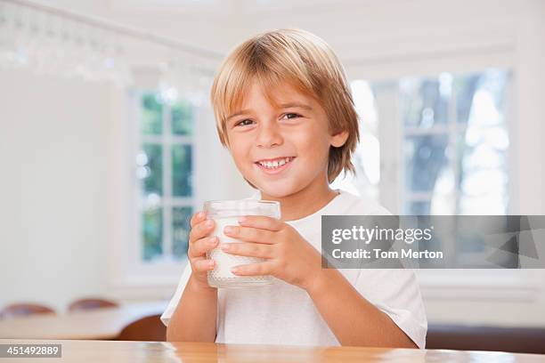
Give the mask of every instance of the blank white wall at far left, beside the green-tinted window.
[[105, 90], [0, 72], [0, 305], [30, 300], [63, 309], [102, 288]]

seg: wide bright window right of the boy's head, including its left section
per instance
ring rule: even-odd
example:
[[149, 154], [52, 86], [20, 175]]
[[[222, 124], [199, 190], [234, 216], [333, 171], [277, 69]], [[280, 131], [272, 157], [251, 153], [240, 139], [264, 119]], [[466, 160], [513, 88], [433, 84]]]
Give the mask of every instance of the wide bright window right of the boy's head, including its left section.
[[[484, 69], [354, 80], [357, 175], [335, 186], [375, 198], [395, 214], [508, 214], [509, 79], [507, 69]], [[483, 267], [486, 251], [471, 238], [456, 234], [441, 245], [460, 264]]]

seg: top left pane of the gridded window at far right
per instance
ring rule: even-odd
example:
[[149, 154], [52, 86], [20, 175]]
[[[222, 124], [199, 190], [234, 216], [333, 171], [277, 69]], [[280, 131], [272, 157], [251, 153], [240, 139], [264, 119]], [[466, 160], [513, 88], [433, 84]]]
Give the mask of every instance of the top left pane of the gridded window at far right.
[[452, 77], [403, 78], [400, 81], [403, 124], [429, 128], [449, 118]]

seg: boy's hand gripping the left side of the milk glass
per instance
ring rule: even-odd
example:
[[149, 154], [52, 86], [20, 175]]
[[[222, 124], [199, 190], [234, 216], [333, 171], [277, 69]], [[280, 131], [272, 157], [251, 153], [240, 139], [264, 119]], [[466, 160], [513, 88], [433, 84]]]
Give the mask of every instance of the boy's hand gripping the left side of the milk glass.
[[199, 286], [208, 287], [207, 271], [214, 270], [214, 260], [207, 260], [207, 252], [214, 249], [219, 240], [208, 235], [214, 230], [214, 221], [207, 219], [204, 211], [191, 216], [191, 232], [187, 257], [191, 263], [191, 278]]

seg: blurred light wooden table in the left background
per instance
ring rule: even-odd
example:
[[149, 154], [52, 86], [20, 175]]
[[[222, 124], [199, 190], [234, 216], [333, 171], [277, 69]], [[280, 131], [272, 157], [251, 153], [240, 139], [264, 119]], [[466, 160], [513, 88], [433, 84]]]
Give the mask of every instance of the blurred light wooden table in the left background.
[[130, 323], [161, 314], [166, 307], [167, 303], [142, 303], [5, 319], [0, 320], [0, 339], [115, 339]]

